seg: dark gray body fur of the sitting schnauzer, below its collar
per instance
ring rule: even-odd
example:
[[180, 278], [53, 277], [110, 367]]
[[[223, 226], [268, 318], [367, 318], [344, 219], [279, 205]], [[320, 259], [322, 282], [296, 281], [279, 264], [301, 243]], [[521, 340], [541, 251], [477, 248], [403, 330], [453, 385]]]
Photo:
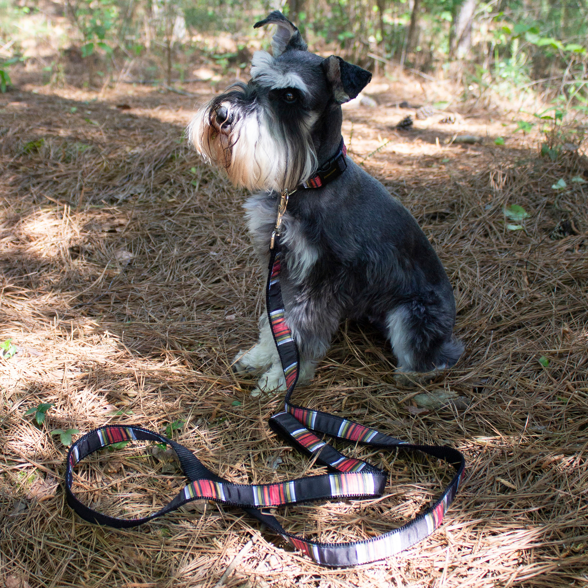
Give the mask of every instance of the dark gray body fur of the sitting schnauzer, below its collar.
[[[245, 204], [263, 270], [276, 218], [276, 194]], [[323, 188], [290, 196], [283, 218], [280, 286], [303, 359], [325, 355], [342, 320], [369, 319], [393, 343], [403, 372], [454, 365], [453, 290], [416, 220], [376, 179], [348, 159]]]

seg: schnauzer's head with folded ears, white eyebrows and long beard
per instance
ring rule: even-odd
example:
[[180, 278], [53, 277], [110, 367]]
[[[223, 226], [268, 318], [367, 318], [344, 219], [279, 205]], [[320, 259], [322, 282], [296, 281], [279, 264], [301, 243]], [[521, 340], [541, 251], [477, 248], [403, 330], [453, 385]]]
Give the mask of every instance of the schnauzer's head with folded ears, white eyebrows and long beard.
[[250, 190], [294, 189], [339, 145], [340, 105], [372, 74], [331, 55], [309, 53], [281, 12], [255, 24], [277, 25], [273, 55], [256, 51], [251, 79], [235, 83], [196, 113], [189, 139], [201, 156]]

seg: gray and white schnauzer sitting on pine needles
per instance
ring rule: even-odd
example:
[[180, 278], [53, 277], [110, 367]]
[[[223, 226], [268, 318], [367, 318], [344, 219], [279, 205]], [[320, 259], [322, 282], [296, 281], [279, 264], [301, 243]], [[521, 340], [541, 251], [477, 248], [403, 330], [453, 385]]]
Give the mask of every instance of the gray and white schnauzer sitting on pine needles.
[[[452, 335], [452, 286], [406, 208], [350, 159], [332, 182], [297, 190], [338, 153], [341, 104], [372, 75], [334, 55], [308, 52], [296, 26], [278, 11], [255, 27], [266, 24], [277, 25], [273, 56], [255, 52], [250, 81], [200, 109], [188, 133], [205, 161], [255, 192], [245, 204], [246, 219], [264, 270], [279, 192], [295, 191], [282, 220], [280, 286], [300, 350], [299, 381], [312, 379], [345, 319], [368, 319], [385, 333], [397, 372], [453, 366], [463, 345]], [[233, 367], [262, 374], [254, 393], [285, 390], [265, 312], [259, 330], [257, 345], [240, 352]]]

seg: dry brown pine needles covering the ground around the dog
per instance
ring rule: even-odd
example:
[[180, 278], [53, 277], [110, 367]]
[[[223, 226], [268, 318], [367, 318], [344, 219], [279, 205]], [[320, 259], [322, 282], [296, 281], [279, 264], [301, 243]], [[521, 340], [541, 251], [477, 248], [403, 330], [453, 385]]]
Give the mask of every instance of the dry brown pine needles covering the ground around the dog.
[[[251, 383], [230, 375], [230, 358], [255, 341], [265, 276], [243, 227], [245, 193], [179, 142], [192, 100], [131, 89], [83, 103], [81, 92], [42, 92], [13, 93], [0, 112], [1, 339], [19, 346], [0, 359], [0, 586], [215, 586], [251, 537], [226, 586], [586, 586], [588, 208], [586, 189], [569, 182], [582, 158], [546, 162], [519, 139], [443, 146], [447, 125], [402, 133], [390, 126], [405, 111], [346, 112], [356, 161], [390, 139], [365, 165], [419, 219], [455, 286], [466, 353], [427, 389], [455, 390], [470, 407], [413, 416], [413, 390], [390, 377], [389, 346], [343, 325], [296, 399], [456, 446], [467, 470], [432, 537], [386, 562], [329, 570], [213, 503], [129, 531], [86, 524], [65, 505], [52, 482], [64, 472], [65, 448], [48, 434], [56, 428], [163, 431], [181, 419], [179, 441], [235, 482], [320, 468], [269, 432], [282, 399], [252, 399]], [[485, 125], [492, 134], [497, 122], [460, 130]], [[557, 195], [550, 186], [561, 177], [572, 188]], [[505, 228], [502, 206], [513, 203], [531, 213], [526, 231]], [[567, 218], [581, 234], [549, 239]], [[24, 412], [41, 402], [55, 406], [39, 428]], [[402, 455], [349, 453], [390, 470], [386, 497], [282, 509], [286, 527], [321, 540], [370, 537], [415, 516], [450, 474]], [[112, 515], [152, 512], [184, 484], [142, 447], [87, 463], [76, 490]]]

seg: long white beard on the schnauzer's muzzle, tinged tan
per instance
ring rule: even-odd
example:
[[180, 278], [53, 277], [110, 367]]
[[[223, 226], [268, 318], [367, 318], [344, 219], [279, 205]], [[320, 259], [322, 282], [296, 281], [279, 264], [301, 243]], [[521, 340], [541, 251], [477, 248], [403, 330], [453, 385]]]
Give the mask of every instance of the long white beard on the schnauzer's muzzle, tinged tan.
[[263, 112], [252, 111], [236, 116], [227, 136], [211, 126], [209, 112], [205, 107], [196, 113], [188, 136], [203, 159], [224, 168], [236, 185], [251, 191], [293, 190], [315, 170], [316, 155], [309, 132], [314, 121], [301, 129], [302, 137], [288, 141], [272, 135], [269, 125], [260, 120]]

